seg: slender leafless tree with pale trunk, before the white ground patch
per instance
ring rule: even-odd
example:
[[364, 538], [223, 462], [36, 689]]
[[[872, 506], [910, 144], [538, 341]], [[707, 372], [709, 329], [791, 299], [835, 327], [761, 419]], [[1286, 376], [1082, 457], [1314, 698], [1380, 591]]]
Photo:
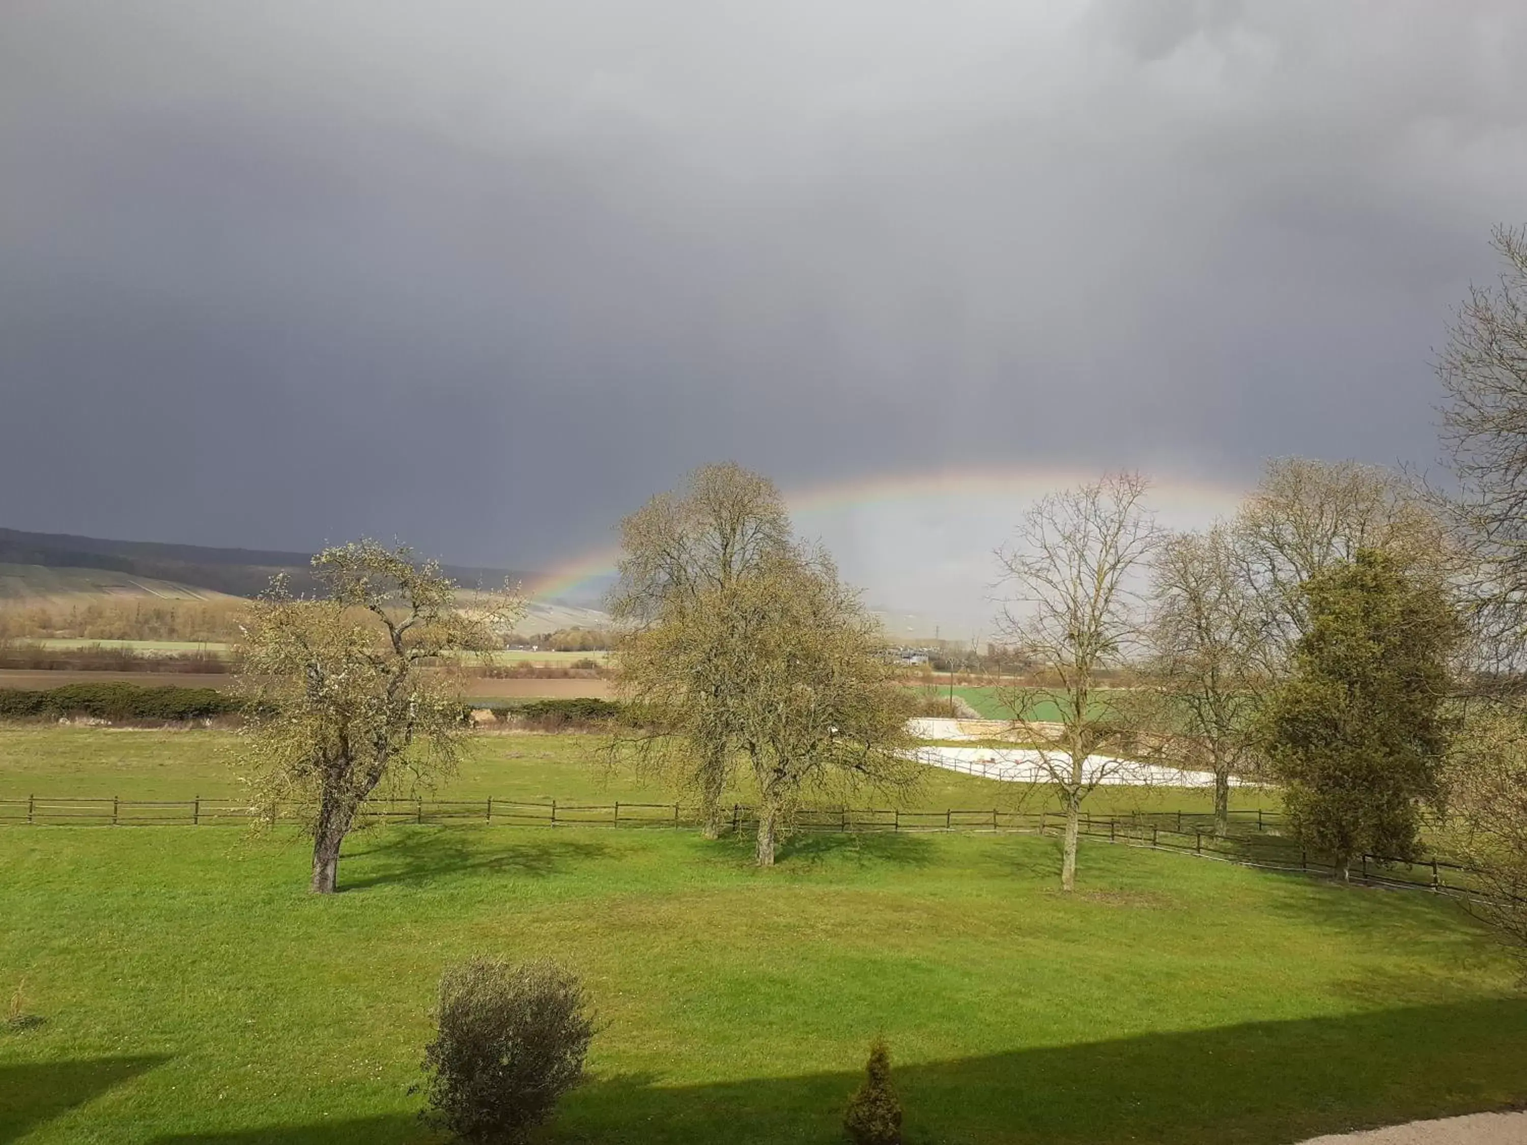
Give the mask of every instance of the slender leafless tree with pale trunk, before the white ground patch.
[[[1138, 473], [1118, 473], [1052, 493], [1025, 514], [1014, 545], [997, 553], [1000, 583], [1012, 592], [999, 629], [1035, 664], [1032, 682], [1005, 689], [1003, 699], [1061, 794], [1064, 890], [1077, 885], [1083, 802], [1132, 766], [1099, 753], [1128, 751], [1139, 733], [1135, 699], [1109, 684], [1119, 682], [1113, 673], [1127, 667], [1144, 623], [1142, 562], [1161, 536], [1147, 489]], [[1034, 719], [1046, 708], [1055, 721]]]

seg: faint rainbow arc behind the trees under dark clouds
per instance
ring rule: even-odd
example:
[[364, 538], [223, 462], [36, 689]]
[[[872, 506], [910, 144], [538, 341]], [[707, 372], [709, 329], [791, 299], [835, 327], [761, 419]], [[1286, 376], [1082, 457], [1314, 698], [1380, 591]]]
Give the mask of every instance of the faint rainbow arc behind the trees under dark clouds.
[[[1096, 472], [1022, 467], [962, 467], [924, 472], [876, 473], [818, 485], [785, 490], [791, 514], [820, 516], [846, 510], [884, 508], [948, 498], [1008, 498], [1014, 519], [1022, 507], [1052, 490], [1095, 481]], [[1245, 490], [1202, 479], [1151, 478], [1150, 502], [1164, 518], [1208, 522], [1229, 514]], [[533, 600], [553, 600], [576, 592], [602, 577], [614, 576], [618, 547], [611, 542], [556, 565], [527, 585]]]

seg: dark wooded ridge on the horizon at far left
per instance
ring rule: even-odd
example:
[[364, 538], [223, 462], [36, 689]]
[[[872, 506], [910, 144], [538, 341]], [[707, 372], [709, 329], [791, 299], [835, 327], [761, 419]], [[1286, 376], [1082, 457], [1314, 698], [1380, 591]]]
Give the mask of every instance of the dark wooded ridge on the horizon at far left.
[[[98, 569], [128, 577], [173, 582], [234, 597], [253, 597], [286, 572], [296, 592], [312, 591], [308, 553], [278, 553], [252, 548], [166, 545], [156, 540], [107, 540], [63, 533], [21, 533], [0, 528], [0, 563], [52, 569]], [[531, 583], [534, 576], [502, 568], [447, 565], [446, 572], [467, 588], [493, 588], [504, 579]], [[50, 595], [50, 594], [47, 594]]]

